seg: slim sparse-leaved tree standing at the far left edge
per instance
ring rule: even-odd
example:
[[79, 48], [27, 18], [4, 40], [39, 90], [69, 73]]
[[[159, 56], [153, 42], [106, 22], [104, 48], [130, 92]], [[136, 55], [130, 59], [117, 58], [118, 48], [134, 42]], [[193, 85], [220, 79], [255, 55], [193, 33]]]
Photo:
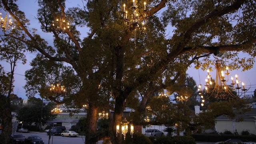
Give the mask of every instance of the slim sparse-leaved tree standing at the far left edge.
[[[13, 36], [18, 36], [20, 38], [25, 38], [25, 35], [22, 34], [18, 30], [14, 30], [12, 32]], [[0, 99], [2, 104], [0, 105], [1, 113], [0, 118], [2, 119], [3, 123], [3, 130], [0, 136], [0, 141], [3, 144], [7, 144], [10, 142], [10, 136], [12, 132], [12, 115], [11, 115], [11, 106], [10, 100], [12, 99], [13, 91], [13, 82], [14, 82], [14, 71], [16, 69], [16, 65], [18, 63], [25, 64], [26, 63], [26, 45], [15, 38], [5, 37], [1, 39], [1, 46], [0, 46], [0, 60], [5, 61], [10, 64], [10, 72], [7, 75], [2, 72], [1, 68], [1, 79], [3, 79], [3, 83], [1, 84], [1, 95]], [[3, 88], [3, 89], [2, 89]]]

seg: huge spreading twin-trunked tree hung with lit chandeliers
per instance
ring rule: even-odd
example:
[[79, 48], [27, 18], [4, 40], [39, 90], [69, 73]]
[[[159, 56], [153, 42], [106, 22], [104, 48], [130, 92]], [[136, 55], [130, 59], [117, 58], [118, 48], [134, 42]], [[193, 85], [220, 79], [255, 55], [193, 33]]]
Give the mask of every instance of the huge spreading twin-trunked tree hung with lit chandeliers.
[[[67, 8], [64, 0], [38, 0], [38, 20], [43, 32], [53, 34], [53, 46], [35, 31], [28, 31], [28, 20], [13, 0], [1, 1], [1, 6], [15, 19], [16, 26], [24, 30], [28, 39], [11, 34], [5, 36], [25, 42], [29, 50], [37, 50], [56, 65], [59, 62], [70, 64], [74, 70], [70, 75], [81, 80], [81, 85], [76, 88], [78, 92], [74, 93], [76, 96], [60, 98], [49, 95], [48, 98], [57, 103], [77, 102], [78, 105], [82, 100], [88, 102], [88, 131], [91, 133], [86, 134], [86, 144], [97, 140], [93, 137], [97, 114], [107, 98], [111, 97], [115, 102], [110, 138], [112, 144], [121, 144], [122, 135], [116, 137], [116, 124], [121, 121], [126, 98], [151, 90], [151, 83], [159, 90], [165, 84], [170, 85], [170, 89], [175, 88], [173, 85], [190, 64], [195, 63], [197, 68], [204, 69], [212, 62], [212, 54], [218, 55], [223, 64], [230, 60], [231, 69], [242, 66], [248, 70], [254, 62], [256, 4], [251, 0], [221, 3], [212, 0], [149, 0], [146, 31], [136, 24], [126, 25], [121, 16], [123, 1], [90, 0], [83, 8]], [[140, 14], [141, 5], [138, 5]], [[167, 8], [161, 16], [154, 16], [165, 6]], [[51, 22], [56, 18], [65, 18], [70, 22], [70, 29], [60, 32], [54, 28]], [[168, 25], [174, 30], [166, 38]], [[86, 38], [80, 38], [78, 27], [90, 29]], [[248, 53], [250, 57], [237, 58], [237, 52]], [[70, 75], [62, 78], [68, 79]], [[38, 89], [38, 92], [43, 95], [46, 90]]]

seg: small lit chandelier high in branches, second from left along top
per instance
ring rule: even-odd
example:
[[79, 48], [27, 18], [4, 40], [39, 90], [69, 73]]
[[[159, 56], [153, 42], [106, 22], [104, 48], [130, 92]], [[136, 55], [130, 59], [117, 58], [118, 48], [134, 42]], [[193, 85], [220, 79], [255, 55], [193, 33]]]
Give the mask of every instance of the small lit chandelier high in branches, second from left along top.
[[66, 30], [69, 30], [69, 24], [70, 23], [65, 20], [65, 17], [56, 18], [56, 20], [52, 21], [52, 26], [58, 32], [65, 32]]

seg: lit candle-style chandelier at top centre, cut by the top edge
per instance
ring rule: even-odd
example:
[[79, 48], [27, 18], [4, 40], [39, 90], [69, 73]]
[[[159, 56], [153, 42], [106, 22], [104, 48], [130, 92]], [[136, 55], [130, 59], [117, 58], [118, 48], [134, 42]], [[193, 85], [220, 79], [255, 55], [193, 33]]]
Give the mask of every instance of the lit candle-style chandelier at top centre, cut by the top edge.
[[[142, 26], [144, 29], [144, 25], [148, 21], [147, 10], [146, 10], [146, 2], [144, 2], [144, 9], [138, 9], [138, 0], [132, 0], [132, 5], [127, 5], [130, 7], [128, 10], [126, 9], [126, 4], [123, 5], [123, 18], [126, 22], [126, 25], [129, 26]], [[143, 14], [142, 14], [143, 13]]]

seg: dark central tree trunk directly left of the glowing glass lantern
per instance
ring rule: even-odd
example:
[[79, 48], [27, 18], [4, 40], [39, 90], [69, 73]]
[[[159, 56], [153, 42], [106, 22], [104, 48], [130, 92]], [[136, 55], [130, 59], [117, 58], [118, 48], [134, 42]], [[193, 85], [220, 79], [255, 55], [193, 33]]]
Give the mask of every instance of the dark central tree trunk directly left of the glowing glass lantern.
[[120, 125], [120, 122], [122, 120], [122, 114], [124, 111], [124, 100], [125, 99], [122, 96], [116, 98], [114, 117], [112, 121], [112, 134], [110, 135], [112, 144], [122, 144], [121, 126], [119, 133], [116, 135], [116, 125]]

